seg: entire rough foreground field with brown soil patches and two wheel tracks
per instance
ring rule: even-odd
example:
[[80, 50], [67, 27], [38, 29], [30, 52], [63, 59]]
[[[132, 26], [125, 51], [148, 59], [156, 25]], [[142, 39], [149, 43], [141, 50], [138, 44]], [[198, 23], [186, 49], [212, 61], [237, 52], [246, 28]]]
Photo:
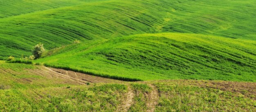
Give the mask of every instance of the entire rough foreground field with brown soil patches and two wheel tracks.
[[[43, 66], [6, 64], [4, 61], [0, 61], [0, 75], [0, 111], [256, 110], [256, 83], [110, 80], [88, 85], [63, 77], [78, 78], [71, 71], [56, 72]], [[101, 77], [97, 79], [105, 81]]]

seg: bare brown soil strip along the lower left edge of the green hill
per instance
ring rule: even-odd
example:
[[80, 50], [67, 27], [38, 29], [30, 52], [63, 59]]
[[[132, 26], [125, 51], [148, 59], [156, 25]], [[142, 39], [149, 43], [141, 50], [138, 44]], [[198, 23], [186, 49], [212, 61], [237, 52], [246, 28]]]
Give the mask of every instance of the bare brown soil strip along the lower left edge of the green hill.
[[[38, 75], [45, 77], [47, 79], [54, 79], [56, 81], [70, 83], [70, 84], [79, 84], [84, 85], [88, 82], [90, 83], [122, 83], [124, 81], [119, 81], [115, 79], [108, 79], [103, 77], [96, 77], [92, 75], [87, 75], [79, 72], [67, 71], [63, 69], [40, 67], [38, 69], [25, 69], [22, 72], [14, 71], [11, 69], [0, 69], [0, 74], [3, 75]], [[16, 81], [21, 83], [33, 83], [33, 78], [15, 78]]]

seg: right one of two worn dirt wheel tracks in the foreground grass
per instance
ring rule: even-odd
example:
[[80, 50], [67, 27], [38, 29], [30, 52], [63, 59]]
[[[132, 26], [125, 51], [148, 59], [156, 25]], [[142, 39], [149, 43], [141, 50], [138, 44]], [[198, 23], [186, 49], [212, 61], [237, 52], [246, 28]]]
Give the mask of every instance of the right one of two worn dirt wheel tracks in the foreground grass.
[[148, 84], [152, 88], [152, 91], [149, 93], [149, 102], [147, 102], [147, 112], [154, 112], [155, 105], [159, 99], [159, 94], [157, 88], [154, 85]]

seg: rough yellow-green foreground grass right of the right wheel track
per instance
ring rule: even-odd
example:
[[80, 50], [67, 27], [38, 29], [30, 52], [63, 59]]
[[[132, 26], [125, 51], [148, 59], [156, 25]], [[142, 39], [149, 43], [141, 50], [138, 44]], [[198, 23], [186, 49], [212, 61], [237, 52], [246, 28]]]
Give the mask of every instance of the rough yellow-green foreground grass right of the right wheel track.
[[155, 83], [160, 98], [156, 112], [164, 111], [255, 111], [254, 100], [243, 94], [213, 88]]

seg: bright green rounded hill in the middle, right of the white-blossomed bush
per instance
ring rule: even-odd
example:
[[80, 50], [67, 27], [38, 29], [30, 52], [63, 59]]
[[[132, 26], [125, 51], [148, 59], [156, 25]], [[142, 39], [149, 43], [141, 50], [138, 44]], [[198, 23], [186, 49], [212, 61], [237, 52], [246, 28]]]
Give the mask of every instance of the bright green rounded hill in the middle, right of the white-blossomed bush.
[[255, 51], [255, 42], [249, 40], [159, 33], [72, 44], [35, 62], [142, 80], [256, 81]]

